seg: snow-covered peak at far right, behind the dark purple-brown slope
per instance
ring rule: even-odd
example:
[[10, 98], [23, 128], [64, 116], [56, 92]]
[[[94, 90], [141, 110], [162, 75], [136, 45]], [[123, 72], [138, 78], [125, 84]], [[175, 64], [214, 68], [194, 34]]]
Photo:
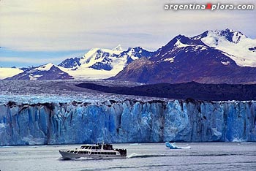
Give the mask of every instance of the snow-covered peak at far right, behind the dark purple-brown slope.
[[256, 67], [256, 39], [250, 39], [240, 31], [228, 28], [222, 31], [206, 31], [192, 39], [201, 39], [204, 44], [222, 50], [238, 66]]

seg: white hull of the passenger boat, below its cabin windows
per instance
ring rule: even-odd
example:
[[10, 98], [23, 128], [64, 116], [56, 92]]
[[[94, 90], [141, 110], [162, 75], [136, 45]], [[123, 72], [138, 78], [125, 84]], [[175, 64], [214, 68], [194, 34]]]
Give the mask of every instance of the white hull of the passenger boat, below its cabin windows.
[[124, 159], [127, 156], [121, 155], [97, 155], [97, 154], [86, 154], [86, 153], [69, 153], [67, 151], [59, 150], [63, 159], [79, 159], [79, 158], [91, 158], [91, 159]]

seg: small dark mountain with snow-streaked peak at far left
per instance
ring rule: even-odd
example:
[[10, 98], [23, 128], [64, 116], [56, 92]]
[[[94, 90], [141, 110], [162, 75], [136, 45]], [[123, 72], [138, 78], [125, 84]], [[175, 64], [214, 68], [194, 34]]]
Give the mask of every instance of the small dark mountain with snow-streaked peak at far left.
[[58, 66], [52, 63], [45, 64], [38, 67], [23, 68], [23, 72], [12, 77], [7, 77], [5, 80], [65, 80], [72, 79], [72, 76], [68, 75], [59, 69]]

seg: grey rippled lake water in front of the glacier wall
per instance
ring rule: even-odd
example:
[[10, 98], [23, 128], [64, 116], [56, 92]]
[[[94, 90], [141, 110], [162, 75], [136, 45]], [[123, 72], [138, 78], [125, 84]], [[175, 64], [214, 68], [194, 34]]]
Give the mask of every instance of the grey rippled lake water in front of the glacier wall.
[[63, 160], [59, 149], [80, 145], [0, 147], [0, 170], [256, 170], [256, 142], [114, 144], [127, 148], [127, 159]]

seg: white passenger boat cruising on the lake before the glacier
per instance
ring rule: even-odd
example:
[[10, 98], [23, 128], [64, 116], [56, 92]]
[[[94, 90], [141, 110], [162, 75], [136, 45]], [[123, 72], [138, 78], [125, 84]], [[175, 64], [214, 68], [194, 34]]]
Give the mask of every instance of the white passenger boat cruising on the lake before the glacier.
[[126, 158], [127, 149], [114, 149], [112, 144], [100, 142], [97, 144], [81, 145], [80, 148], [59, 150], [63, 159], [79, 159], [81, 157], [92, 159]]

